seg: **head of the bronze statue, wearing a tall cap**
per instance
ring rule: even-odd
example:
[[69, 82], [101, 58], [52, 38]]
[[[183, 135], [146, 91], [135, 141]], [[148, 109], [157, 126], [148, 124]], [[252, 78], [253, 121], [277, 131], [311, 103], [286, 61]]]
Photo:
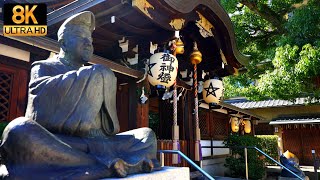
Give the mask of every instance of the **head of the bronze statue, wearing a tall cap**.
[[71, 63], [84, 64], [93, 54], [94, 14], [84, 11], [69, 17], [58, 30], [60, 53]]

